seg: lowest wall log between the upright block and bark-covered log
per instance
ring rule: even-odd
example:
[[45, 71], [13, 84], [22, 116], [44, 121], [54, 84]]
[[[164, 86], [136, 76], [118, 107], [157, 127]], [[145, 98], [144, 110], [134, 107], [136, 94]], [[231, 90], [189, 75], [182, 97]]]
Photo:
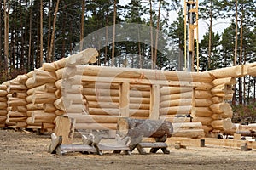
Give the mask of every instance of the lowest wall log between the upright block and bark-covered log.
[[116, 123], [76, 123], [75, 129], [116, 130]]

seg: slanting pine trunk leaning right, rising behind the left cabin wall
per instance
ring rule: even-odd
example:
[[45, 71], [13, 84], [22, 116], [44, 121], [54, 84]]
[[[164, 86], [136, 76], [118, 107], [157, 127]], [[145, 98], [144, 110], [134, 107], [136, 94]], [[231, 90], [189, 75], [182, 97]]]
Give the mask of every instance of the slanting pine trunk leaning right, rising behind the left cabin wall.
[[59, 10], [59, 3], [60, 3], [60, 0], [57, 0], [56, 7], [55, 7], [54, 20], [53, 20], [53, 25], [52, 25], [52, 33], [51, 33], [51, 38], [50, 38], [49, 55], [47, 56], [48, 62], [53, 61], [53, 50], [54, 50], [54, 42], [55, 42], [55, 24], [56, 24], [56, 20], [57, 20], [57, 13]]

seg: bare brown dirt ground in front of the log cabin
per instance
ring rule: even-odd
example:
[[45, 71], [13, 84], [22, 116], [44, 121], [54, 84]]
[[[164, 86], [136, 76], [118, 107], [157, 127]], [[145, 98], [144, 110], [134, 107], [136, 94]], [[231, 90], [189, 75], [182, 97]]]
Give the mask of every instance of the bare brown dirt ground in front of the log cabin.
[[162, 153], [131, 156], [105, 153], [103, 156], [47, 153], [50, 134], [0, 130], [0, 169], [256, 169], [256, 151], [187, 147], [170, 155]]

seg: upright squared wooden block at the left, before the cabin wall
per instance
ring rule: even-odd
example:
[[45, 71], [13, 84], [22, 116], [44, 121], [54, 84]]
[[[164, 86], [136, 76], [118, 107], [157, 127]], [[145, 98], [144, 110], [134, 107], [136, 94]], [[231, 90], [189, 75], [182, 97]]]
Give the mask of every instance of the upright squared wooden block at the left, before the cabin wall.
[[58, 116], [56, 120], [55, 134], [62, 136], [62, 144], [73, 143], [75, 119], [68, 116]]

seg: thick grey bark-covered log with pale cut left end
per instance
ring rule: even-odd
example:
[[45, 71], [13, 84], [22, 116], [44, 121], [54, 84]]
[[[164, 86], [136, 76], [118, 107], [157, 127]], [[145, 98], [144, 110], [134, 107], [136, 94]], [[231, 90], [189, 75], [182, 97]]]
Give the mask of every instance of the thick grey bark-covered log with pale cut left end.
[[171, 137], [173, 133], [173, 127], [171, 122], [162, 120], [141, 120], [132, 118], [119, 118], [117, 133], [121, 137], [130, 136], [132, 138], [139, 137], [151, 137], [161, 138], [163, 136]]

